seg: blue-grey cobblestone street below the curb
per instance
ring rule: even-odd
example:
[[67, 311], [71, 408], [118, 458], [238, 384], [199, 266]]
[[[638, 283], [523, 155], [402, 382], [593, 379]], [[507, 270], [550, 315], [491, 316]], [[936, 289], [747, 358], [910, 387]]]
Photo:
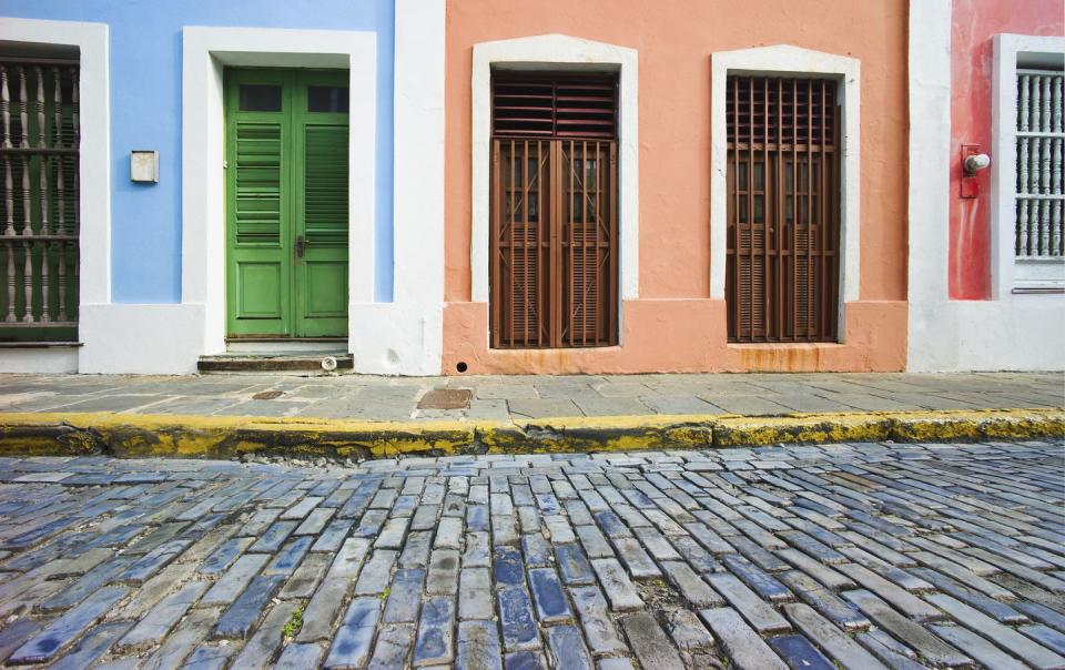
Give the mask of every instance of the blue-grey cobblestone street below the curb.
[[1061, 668], [1063, 455], [2, 459], [0, 660]]

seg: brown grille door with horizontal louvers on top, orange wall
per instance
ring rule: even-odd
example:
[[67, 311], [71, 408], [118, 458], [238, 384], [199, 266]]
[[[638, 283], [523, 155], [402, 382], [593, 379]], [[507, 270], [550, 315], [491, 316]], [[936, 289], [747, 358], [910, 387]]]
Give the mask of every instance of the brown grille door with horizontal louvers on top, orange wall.
[[617, 82], [493, 80], [491, 346], [617, 344]]

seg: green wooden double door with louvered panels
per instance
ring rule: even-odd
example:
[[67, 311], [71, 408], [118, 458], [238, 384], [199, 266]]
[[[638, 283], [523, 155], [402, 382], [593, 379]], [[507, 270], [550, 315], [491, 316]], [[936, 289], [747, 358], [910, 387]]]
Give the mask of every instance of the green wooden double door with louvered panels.
[[347, 334], [347, 72], [226, 71], [226, 332]]

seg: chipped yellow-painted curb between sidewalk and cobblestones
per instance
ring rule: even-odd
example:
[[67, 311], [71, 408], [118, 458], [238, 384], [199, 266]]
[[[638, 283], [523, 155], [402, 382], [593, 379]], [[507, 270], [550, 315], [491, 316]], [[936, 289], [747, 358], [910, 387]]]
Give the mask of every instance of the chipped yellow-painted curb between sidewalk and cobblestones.
[[558, 417], [373, 422], [115, 413], [2, 414], [0, 455], [397, 455], [623, 451], [834, 441], [972, 441], [1065, 436], [1063, 409], [869, 412], [788, 416]]

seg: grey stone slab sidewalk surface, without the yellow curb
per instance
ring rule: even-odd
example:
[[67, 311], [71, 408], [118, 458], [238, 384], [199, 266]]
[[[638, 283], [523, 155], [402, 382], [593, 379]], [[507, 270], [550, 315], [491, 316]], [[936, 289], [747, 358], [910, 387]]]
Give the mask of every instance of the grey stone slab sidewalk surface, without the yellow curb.
[[[419, 409], [437, 388], [465, 409]], [[276, 390], [276, 398], [253, 399]], [[382, 420], [527, 419], [793, 412], [1057, 408], [1063, 373], [655, 374], [375, 377], [0, 375], [0, 412], [287, 416]]]

